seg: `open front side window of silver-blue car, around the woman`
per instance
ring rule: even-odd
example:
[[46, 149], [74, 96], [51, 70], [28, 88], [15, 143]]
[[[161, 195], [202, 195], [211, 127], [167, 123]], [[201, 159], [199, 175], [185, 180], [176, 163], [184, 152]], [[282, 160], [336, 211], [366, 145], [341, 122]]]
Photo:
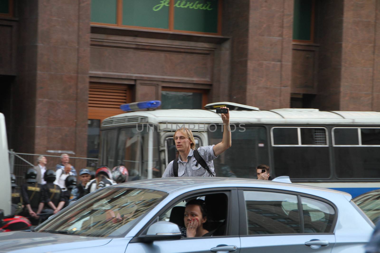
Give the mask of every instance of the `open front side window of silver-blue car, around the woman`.
[[207, 221], [203, 224], [203, 228], [211, 232], [212, 236], [226, 235], [228, 197], [225, 193], [202, 194], [179, 200], [169, 207], [168, 211], [160, 215], [158, 220], [177, 224], [182, 232], [182, 237], [186, 237], [185, 208], [187, 202], [194, 199], [204, 202]]

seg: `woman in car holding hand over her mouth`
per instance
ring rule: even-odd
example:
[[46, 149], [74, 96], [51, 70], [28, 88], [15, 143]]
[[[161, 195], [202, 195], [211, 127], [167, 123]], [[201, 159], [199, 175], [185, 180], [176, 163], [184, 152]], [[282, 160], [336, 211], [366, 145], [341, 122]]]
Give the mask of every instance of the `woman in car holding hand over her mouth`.
[[212, 236], [209, 231], [203, 228], [206, 222], [207, 211], [204, 200], [190, 200], [185, 207], [185, 227], [180, 227], [182, 237]]

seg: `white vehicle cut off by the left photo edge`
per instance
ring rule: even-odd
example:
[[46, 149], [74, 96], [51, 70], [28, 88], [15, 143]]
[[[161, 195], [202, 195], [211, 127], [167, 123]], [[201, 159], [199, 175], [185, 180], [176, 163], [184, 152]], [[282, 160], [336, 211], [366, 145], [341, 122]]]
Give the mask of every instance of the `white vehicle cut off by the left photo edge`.
[[2, 176], [0, 177], [0, 209], [4, 215], [11, 214], [11, 172], [9, 168], [8, 142], [6, 140], [5, 118], [0, 113], [0, 166]]

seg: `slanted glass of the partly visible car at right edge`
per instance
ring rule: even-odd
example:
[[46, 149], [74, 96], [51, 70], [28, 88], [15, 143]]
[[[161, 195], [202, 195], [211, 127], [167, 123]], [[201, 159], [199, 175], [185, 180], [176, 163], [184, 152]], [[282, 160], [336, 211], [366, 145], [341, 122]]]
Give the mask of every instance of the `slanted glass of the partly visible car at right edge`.
[[368, 192], [357, 196], [352, 201], [376, 224], [380, 220], [380, 192]]

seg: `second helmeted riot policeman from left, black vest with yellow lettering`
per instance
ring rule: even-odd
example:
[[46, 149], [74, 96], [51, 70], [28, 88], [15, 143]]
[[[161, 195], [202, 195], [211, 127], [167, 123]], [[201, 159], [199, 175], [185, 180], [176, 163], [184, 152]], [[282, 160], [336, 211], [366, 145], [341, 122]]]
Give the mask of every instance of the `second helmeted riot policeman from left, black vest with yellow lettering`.
[[30, 216], [33, 225], [38, 224], [38, 215], [40, 214], [45, 202], [45, 196], [41, 190], [41, 185], [37, 183], [37, 171], [35, 168], [29, 168], [25, 174], [26, 183], [21, 187], [22, 200], [24, 202], [23, 216]]

